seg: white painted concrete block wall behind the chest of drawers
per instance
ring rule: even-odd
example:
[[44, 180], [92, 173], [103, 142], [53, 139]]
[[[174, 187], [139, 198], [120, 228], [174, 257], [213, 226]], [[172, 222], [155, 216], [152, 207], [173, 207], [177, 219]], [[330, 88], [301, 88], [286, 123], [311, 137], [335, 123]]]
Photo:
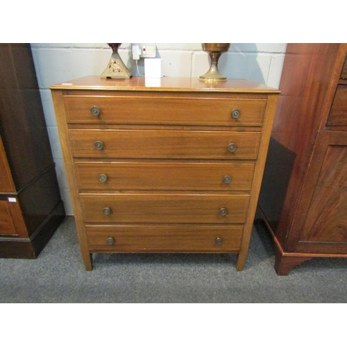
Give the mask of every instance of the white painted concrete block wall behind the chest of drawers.
[[[131, 43], [121, 44], [119, 55], [133, 72], [133, 76], [144, 74], [144, 60], [140, 59], [136, 67], [131, 58]], [[228, 78], [245, 78], [278, 88], [282, 73], [287, 44], [230, 44], [228, 52], [219, 58], [219, 70]], [[108, 44], [31, 44], [33, 58], [40, 87], [46, 126], [51, 141], [53, 160], [60, 192], [67, 214], [74, 214], [71, 207], [69, 187], [65, 174], [62, 151], [56, 125], [49, 87], [74, 78], [101, 75], [112, 50]], [[202, 51], [201, 43], [157, 43], [156, 58], [163, 60], [164, 76], [198, 78], [208, 71], [210, 62], [208, 53]], [[137, 72], [139, 71], [139, 74]]]

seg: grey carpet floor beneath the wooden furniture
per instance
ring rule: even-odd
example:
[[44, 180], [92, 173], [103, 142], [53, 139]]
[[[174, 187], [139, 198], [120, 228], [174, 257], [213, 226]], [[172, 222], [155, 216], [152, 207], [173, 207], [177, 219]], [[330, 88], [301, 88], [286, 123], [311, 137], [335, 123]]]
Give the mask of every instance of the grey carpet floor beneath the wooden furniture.
[[93, 271], [85, 271], [74, 218], [66, 217], [36, 260], [0, 259], [0, 303], [347, 302], [347, 259], [315, 258], [278, 276], [261, 223], [244, 271], [236, 271], [236, 255], [93, 257]]

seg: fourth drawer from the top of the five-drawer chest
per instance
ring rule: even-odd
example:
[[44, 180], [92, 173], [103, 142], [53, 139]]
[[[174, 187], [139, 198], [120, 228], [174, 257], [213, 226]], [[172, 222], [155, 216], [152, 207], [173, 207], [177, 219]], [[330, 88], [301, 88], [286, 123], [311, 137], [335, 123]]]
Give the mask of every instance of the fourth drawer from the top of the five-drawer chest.
[[80, 194], [80, 199], [87, 223], [244, 223], [249, 195]]

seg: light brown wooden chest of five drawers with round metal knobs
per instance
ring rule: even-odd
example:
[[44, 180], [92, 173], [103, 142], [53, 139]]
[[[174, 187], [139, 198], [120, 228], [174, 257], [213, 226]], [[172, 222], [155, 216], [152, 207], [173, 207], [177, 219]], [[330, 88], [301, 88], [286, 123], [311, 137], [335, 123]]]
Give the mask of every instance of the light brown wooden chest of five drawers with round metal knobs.
[[92, 253], [248, 251], [278, 90], [191, 78], [53, 85], [85, 268]]

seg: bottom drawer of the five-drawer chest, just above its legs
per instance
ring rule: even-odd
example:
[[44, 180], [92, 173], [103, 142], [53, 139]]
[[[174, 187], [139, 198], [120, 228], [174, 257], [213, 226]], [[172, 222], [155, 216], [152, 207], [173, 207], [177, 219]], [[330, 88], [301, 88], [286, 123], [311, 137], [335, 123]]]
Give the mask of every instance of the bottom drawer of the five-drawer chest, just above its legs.
[[86, 226], [90, 252], [237, 252], [243, 226]]

